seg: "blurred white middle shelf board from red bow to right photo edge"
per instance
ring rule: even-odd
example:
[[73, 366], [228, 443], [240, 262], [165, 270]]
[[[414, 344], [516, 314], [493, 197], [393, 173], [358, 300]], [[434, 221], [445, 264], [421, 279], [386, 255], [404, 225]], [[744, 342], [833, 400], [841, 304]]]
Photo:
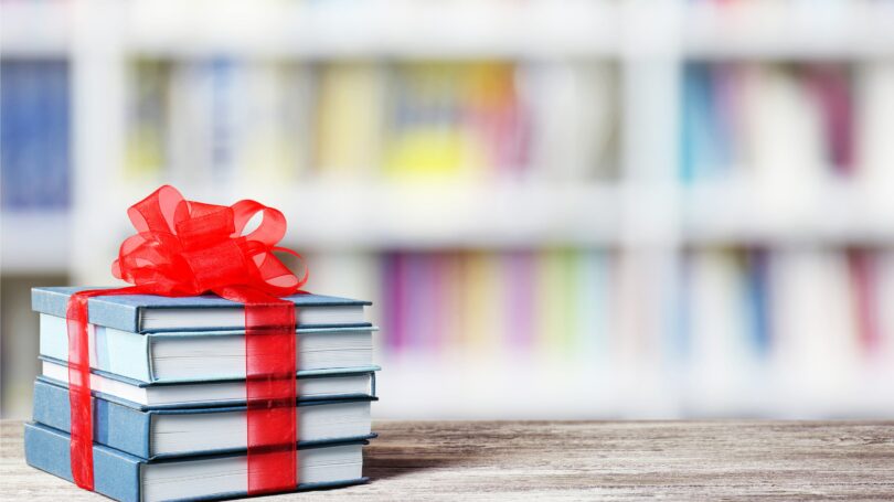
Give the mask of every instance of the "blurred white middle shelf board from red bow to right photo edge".
[[[155, 186], [116, 190], [113, 214]], [[299, 249], [894, 244], [894, 196], [868, 184], [768, 190], [755, 183], [313, 181], [270, 189], [181, 186], [194, 200], [281, 210]], [[877, 186], [876, 186], [877, 188]], [[126, 235], [124, 216], [118, 218]]]

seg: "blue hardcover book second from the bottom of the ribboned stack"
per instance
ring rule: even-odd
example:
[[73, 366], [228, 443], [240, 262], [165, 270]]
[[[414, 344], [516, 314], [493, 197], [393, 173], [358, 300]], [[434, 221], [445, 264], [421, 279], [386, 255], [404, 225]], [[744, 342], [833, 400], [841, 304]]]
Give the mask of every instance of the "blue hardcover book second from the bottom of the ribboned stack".
[[[299, 445], [371, 439], [372, 396], [301, 402]], [[93, 398], [94, 442], [145, 459], [245, 450], [246, 407], [156, 409], [111, 396]], [[34, 382], [34, 421], [71, 432], [68, 389], [45, 377]]]

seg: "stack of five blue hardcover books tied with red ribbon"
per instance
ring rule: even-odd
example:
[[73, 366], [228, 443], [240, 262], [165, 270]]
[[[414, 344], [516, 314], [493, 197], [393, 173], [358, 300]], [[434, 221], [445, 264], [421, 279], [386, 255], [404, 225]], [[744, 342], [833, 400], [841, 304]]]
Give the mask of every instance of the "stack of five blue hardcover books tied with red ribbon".
[[[42, 375], [28, 463], [72, 481], [67, 380], [68, 297], [34, 288]], [[370, 302], [318, 295], [297, 306], [298, 490], [366, 481], [362, 447], [375, 437]], [[121, 501], [247, 493], [244, 310], [214, 296], [89, 300], [94, 474]]]

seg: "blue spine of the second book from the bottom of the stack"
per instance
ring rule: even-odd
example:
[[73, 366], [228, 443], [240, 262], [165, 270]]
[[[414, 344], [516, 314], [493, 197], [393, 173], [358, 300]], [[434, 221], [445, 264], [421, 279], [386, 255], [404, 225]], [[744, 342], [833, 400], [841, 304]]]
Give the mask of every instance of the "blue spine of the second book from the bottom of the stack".
[[[148, 459], [151, 415], [105, 399], [93, 398], [94, 441]], [[71, 431], [68, 391], [46, 382], [34, 383], [34, 421]]]

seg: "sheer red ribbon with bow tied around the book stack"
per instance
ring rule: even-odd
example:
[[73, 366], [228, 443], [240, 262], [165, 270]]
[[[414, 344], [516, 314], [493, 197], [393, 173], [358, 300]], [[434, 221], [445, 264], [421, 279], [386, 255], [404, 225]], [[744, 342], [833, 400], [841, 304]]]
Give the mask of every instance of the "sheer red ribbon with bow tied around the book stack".
[[[296, 410], [296, 308], [279, 297], [307, 282], [274, 252], [286, 233], [279, 211], [255, 201], [232, 206], [187, 201], [164, 185], [127, 211], [137, 234], [111, 265], [115, 277], [134, 286], [79, 291], [68, 300], [68, 387], [72, 477], [94, 489], [87, 300], [105, 295], [185, 297], [211, 291], [245, 306], [245, 397], [247, 403], [248, 494], [292, 490], [298, 484]], [[246, 224], [262, 214], [255, 231]]]

